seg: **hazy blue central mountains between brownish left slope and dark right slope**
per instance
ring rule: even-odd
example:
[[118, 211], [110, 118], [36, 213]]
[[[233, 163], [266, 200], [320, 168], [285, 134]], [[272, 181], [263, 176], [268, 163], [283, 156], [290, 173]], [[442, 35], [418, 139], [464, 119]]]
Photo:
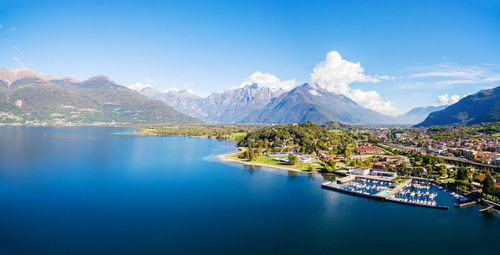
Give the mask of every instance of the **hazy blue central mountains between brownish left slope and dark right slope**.
[[206, 122], [290, 123], [340, 121], [349, 124], [403, 124], [422, 122], [430, 112], [445, 106], [417, 107], [392, 117], [365, 109], [351, 99], [315, 85], [290, 91], [250, 84], [200, 97], [186, 90], [160, 92], [144, 88], [140, 93], [162, 100], [177, 111]]

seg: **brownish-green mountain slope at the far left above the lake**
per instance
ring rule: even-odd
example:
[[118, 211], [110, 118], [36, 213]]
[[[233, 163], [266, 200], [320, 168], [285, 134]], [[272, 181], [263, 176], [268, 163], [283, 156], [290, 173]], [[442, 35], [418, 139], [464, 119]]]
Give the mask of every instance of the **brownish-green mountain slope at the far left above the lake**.
[[0, 123], [81, 125], [198, 121], [101, 75], [79, 82], [26, 68], [1, 69], [0, 87]]

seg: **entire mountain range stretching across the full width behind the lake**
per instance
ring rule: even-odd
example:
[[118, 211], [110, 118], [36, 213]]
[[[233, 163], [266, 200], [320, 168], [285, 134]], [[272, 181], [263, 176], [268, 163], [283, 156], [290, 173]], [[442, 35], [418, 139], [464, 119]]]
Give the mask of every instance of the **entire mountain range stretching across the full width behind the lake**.
[[27, 68], [0, 69], [0, 124], [295, 123], [454, 125], [500, 120], [500, 89], [451, 106], [417, 107], [393, 117], [363, 108], [317, 85], [283, 90], [247, 84], [207, 97], [187, 90], [139, 92], [98, 75], [85, 81]]

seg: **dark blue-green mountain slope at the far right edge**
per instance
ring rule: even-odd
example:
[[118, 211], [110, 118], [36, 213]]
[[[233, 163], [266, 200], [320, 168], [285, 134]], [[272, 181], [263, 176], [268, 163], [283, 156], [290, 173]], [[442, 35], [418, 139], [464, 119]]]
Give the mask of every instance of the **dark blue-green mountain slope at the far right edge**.
[[467, 125], [500, 121], [500, 87], [466, 96], [445, 109], [429, 114], [418, 127]]

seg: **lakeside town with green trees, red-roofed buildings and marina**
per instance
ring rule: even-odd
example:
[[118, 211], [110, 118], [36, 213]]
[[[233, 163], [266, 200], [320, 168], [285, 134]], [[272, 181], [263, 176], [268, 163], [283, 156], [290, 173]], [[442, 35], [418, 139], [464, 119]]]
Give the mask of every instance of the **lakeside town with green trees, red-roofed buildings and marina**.
[[[306, 122], [252, 130], [239, 140], [238, 145], [243, 151], [233, 156], [256, 165], [288, 166], [305, 172], [339, 176], [339, 183], [358, 179], [393, 183], [387, 183], [388, 189], [383, 190], [413, 180], [399, 187], [397, 192], [376, 189], [380, 193], [377, 197], [393, 201], [402, 194], [399, 191], [412, 194], [403, 189], [406, 186], [419, 186], [424, 182], [449, 190], [458, 206], [482, 201], [498, 208], [498, 135], [498, 125], [492, 124], [367, 128], [332, 123], [320, 126]], [[366, 190], [361, 193], [366, 193]], [[433, 203], [406, 201], [423, 205]]]

